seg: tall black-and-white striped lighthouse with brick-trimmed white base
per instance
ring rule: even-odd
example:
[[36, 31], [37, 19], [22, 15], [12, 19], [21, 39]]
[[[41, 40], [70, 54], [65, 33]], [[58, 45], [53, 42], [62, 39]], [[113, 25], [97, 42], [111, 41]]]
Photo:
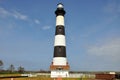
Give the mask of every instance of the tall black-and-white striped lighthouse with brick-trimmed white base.
[[66, 57], [65, 10], [62, 3], [57, 5], [56, 29], [53, 61], [50, 65], [51, 77], [69, 77], [69, 64]]

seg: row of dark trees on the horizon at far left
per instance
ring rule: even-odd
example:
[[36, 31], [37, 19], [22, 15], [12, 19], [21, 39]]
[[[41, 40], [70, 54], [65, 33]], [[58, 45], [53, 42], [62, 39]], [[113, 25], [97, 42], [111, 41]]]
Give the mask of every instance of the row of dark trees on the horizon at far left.
[[0, 60], [0, 73], [24, 73], [25, 72], [24, 67], [19, 66], [16, 70], [13, 64], [11, 64], [6, 70], [3, 68], [4, 68], [4, 62]]

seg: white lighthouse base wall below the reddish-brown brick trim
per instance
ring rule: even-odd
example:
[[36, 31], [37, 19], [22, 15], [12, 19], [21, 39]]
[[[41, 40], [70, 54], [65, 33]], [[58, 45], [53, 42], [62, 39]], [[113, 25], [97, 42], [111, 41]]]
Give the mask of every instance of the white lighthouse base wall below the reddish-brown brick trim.
[[67, 70], [52, 70], [51, 71], [51, 78], [58, 78], [58, 77], [69, 77], [69, 71]]

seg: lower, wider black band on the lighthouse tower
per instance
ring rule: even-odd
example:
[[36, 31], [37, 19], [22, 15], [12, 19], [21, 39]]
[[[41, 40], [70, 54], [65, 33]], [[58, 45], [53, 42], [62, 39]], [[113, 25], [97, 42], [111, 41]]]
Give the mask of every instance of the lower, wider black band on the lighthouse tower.
[[54, 57], [66, 57], [65, 46], [55, 46], [54, 47]]

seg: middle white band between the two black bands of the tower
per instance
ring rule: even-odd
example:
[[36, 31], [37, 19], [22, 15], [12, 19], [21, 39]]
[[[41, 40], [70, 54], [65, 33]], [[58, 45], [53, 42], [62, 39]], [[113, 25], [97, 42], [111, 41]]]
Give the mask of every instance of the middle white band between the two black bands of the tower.
[[64, 35], [56, 35], [54, 46], [66, 46], [65, 36]]

